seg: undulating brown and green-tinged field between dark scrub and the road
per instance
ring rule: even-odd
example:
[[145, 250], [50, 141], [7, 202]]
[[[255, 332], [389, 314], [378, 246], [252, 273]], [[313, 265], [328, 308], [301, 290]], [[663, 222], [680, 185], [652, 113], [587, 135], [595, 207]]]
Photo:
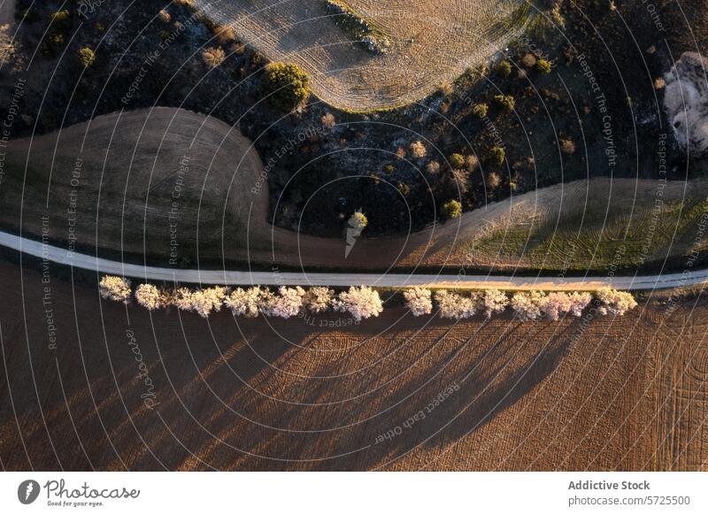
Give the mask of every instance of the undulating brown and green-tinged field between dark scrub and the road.
[[[0, 211], [5, 229], [39, 238], [46, 227], [55, 242], [75, 235], [82, 250], [147, 255], [162, 265], [177, 242], [180, 260], [193, 265], [561, 270], [572, 242], [581, 251], [570, 268], [599, 269], [614, 258], [618, 242], [642, 250], [643, 227], [650, 226], [658, 199], [673, 211], [658, 216], [646, 260], [661, 261], [686, 253], [696, 220], [685, 213], [703, 212], [700, 201], [708, 194], [706, 181], [573, 181], [418, 233], [365, 233], [345, 258], [343, 236], [318, 238], [270, 225], [266, 174], [250, 141], [191, 111], [130, 111], [16, 140], [5, 167], [0, 201], [17, 206]], [[47, 212], [50, 218], [42, 219]]]

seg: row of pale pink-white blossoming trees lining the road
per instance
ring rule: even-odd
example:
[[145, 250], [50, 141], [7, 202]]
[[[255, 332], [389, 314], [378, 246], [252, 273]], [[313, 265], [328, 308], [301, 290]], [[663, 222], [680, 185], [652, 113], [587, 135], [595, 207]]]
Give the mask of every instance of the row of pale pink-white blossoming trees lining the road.
[[[137, 303], [150, 311], [174, 306], [182, 311], [195, 311], [204, 318], [224, 307], [230, 309], [235, 316], [246, 318], [263, 314], [266, 317], [289, 319], [304, 311], [340, 311], [349, 313], [357, 321], [378, 317], [383, 311], [379, 292], [366, 286], [351, 287], [335, 294], [333, 289], [321, 286], [309, 289], [281, 286], [275, 293], [269, 288], [258, 286], [167, 289], [153, 284], [141, 284], [135, 288], [134, 294], [127, 279], [104, 276], [99, 289], [101, 296], [106, 299], [127, 303], [135, 296]], [[490, 318], [511, 308], [521, 320], [543, 317], [558, 320], [566, 315], [580, 317], [582, 311], [593, 302], [593, 296], [588, 292], [520, 291], [508, 296], [498, 289], [462, 295], [450, 290], [437, 290], [433, 293], [427, 288], [410, 288], [404, 290], [404, 298], [406, 307], [414, 316], [433, 313], [436, 304], [437, 313], [443, 319], [469, 319], [478, 313]], [[623, 315], [634, 309], [636, 302], [627, 292], [603, 288], [595, 293], [595, 307], [603, 315]]]

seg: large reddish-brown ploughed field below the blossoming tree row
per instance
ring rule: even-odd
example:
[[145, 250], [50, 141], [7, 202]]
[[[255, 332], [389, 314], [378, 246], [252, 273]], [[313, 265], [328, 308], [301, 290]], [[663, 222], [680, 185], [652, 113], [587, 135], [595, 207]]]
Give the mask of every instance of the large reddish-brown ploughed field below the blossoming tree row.
[[4, 470], [708, 470], [701, 296], [354, 326], [150, 315], [16, 265], [0, 278]]

